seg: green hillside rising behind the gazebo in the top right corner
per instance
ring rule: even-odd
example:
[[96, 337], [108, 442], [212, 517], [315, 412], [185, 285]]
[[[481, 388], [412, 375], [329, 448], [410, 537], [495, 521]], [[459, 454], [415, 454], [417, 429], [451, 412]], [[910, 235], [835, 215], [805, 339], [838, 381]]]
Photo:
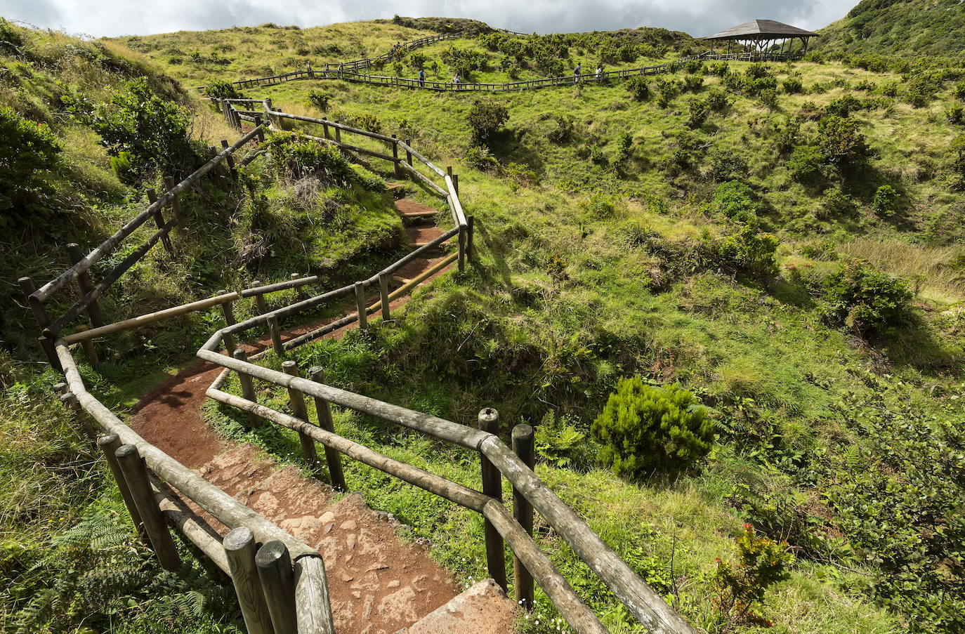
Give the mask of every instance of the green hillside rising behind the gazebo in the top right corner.
[[905, 57], [960, 57], [965, 10], [958, 0], [862, 0], [819, 31], [815, 50]]

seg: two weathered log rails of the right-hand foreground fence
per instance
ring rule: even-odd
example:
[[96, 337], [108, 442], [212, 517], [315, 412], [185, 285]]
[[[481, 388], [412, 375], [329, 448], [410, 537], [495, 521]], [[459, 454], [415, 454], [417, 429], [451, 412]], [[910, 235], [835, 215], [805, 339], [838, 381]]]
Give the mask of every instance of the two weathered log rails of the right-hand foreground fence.
[[[277, 372], [238, 359], [232, 359], [210, 349], [200, 349], [198, 356], [239, 374], [285, 387], [290, 391], [300, 392], [318, 400], [335, 403], [479, 452], [503, 477], [510, 481], [513, 489], [518, 491], [532, 505], [532, 508], [543, 516], [546, 522], [565, 539], [580, 559], [589, 565], [611, 592], [620, 599], [620, 602], [641, 623], [648, 627], [649, 631], [659, 634], [696, 634], [696, 630], [677, 615], [657, 593], [654, 593], [648, 587], [646, 582], [620, 560], [620, 557], [593, 533], [590, 527], [573, 510], [569, 509], [544, 482], [540, 481], [527, 463], [513, 454], [498, 436], [406, 409], [399, 405], [374, 400], [323, 383], [292, 376], [285, 372]], [[389, 461], [385, 456], [369, 454], [367, 452], [371, 450], [362, 451], [359, 447], [350, 446], [349, 441], [329, 431], [321, 430], [319, 427], [303, 420], [271, 410], [252, 400], [234, 397], [213, 387], [208, 390], [208, 396], [214, 400], [255, 413], [264, 420], [296, 429], [300, 433], [310, 435], [326, 447], [332, 447], [345, 453], [345, 455], [400, 477], [405, 482], [421, 486], [436, 495], [454, 501], [456, 504], [478, 510], [478, 507], [473, 506], [480, 500], [474, 495], [479, 494], [478, 491], [467, 493], [464, 487], [459, 487], [455, 482], [444, 481], [444, 479], [419, 472], [419, 470], [411, 471], [411, 467], [403, 469], [399, 464]], [[458, 499], [456, 499], [456, 493]], [[599, 621], [595, 617], [588, 618], [588, 615], [584, 612], [586, 606], [575, 593], [572, 593], [568, 586], [561, 588], [554, 585], [553, 580], [557, 578], [559, 573], [554, 570], [553, 573], [555, 574], [551, 574], [541, 564], [539, 559], [541, 554], [537, 555], [534, 552], [536, 545], [532, 543], [532, 539], [518, 522], [515, 520], [508, 521], [508, 513], [500, 503], [490, 498], [483, 505], [483, 515], [497, 529], [500, 536], [510, 543], [514, 555], [527, 566], [540, 587], [553, 598], [554, 604], [560, 610], [561, 615], [577, 632], [606, 631], [602, 628], [602, 625], [599, 625]], [[549, 565], [549, 567], [552, 566]], [[547, 586], [550, 586], [549, 590], [547, 590]]]

